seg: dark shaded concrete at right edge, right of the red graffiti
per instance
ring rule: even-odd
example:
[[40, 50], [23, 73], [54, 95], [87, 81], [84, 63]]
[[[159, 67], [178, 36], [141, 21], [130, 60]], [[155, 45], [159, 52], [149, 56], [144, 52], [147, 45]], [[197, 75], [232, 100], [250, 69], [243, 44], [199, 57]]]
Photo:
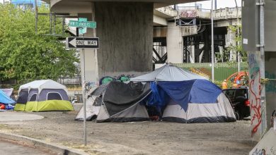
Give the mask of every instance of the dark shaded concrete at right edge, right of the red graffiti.
[[[265, 85], [265, 97], [266, 97], [266, 113], [267, 113], [267, 124], [270, 128], [270, 117], [272, 111], [276, 110], [276, 52], [266, 51], [265, 52], [265, 78], [269, 80]], [[274, 80], [273, 80], [274, 79]]]

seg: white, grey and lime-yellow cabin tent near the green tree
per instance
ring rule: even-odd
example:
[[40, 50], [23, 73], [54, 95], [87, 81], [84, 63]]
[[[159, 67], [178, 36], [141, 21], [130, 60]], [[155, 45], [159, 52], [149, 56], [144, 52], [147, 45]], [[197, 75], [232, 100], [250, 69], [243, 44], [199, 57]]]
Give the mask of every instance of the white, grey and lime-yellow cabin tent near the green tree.
[[74, 111], [67, 87], [53, 80], [35, 80], [21, 85], [15, 111]]

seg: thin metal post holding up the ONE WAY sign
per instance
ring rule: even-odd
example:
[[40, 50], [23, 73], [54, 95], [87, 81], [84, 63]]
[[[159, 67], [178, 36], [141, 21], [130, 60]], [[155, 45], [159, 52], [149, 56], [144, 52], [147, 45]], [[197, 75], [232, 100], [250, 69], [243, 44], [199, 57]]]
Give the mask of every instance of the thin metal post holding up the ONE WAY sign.
[[84, 145], [86, 146], [86, 91], [85, 91], [85, 52], [84, 49], [81, 49], [81, 54], [82, 54], [82, 63], [81, 66], [83, 68], [83, 74], [82, 74], [82, 100], [84, 102]]

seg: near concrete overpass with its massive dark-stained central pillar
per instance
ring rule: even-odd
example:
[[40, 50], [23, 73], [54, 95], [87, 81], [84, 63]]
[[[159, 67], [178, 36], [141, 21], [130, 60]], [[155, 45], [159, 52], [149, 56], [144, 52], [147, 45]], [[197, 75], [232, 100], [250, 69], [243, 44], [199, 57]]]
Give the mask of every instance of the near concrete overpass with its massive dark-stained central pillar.
[[[99, 37], [99, 49], [85, 49], [85, 80], [141, 75], [152, 70], [154, 8], [196, 0], [45, 0], [54, 13], [96, 21], [85, 37]], [[81, 56], [82, 57], [82, 56]]]

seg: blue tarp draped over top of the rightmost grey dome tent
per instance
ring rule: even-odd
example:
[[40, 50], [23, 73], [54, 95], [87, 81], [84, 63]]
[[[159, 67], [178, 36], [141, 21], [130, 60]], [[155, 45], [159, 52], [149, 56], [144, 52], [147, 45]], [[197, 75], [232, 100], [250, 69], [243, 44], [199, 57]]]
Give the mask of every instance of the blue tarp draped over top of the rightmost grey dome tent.
[[222, 89], [208, 80], [158, 82], [157, 85], [185, 111], [188, 103], [217, 103], [217, 97], [222, 93]]

